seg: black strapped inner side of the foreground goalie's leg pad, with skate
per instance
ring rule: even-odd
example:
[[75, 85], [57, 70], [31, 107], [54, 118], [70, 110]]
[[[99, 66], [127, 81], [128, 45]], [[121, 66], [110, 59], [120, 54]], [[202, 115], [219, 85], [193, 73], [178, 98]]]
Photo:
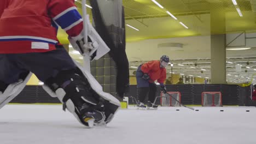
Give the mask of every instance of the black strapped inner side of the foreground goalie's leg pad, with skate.
[[75, 70], [61, 71], [45, 83], [45, 91], [52, 97], [59, 98], [63, 103], [63, 110], [67, 108], [80, 123], [89, 127], [94, 123], [105, 123], [104, 107], [99, 97], [91, 92], [88, 82], [75, 73]]

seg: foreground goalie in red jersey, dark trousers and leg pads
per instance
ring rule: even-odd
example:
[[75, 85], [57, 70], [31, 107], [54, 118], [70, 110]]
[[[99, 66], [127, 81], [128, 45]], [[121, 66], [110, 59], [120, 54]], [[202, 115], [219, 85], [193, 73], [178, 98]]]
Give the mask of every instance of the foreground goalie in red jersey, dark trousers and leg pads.
[[104, 93], [100, 83], [73, 61], [57, 39], [60, 26], [81, 55], [91, 60], [109, 48], [86, 21], [88, 43], [84, 43], [83, 19], [74, 0], [0, 1], [0, 109], [14, 99], [34, 73], [43, 88], [63, 103], [86, 126], [109, 123], [120, 107], [119, 100]]

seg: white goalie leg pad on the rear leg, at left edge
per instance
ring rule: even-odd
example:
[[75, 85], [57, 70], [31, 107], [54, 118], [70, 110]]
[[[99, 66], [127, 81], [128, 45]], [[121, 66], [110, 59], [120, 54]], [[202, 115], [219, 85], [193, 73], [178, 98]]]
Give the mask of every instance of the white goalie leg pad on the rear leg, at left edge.
[[13, 100], [26, 86], [28, 80], [30, 80], [32, 73], [27, 73], [24, 79], [19, 79], [18, 82], [11, 83], [7, 86], [3, 93], [0, 93], [0, 109]]

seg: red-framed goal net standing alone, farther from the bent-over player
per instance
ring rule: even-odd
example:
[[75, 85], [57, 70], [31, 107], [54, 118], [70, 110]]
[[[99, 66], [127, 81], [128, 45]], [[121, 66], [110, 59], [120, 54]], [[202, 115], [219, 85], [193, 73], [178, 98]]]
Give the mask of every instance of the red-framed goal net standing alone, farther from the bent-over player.
[[222, 93], [202, 92], [202, 106], [222, 106]]

